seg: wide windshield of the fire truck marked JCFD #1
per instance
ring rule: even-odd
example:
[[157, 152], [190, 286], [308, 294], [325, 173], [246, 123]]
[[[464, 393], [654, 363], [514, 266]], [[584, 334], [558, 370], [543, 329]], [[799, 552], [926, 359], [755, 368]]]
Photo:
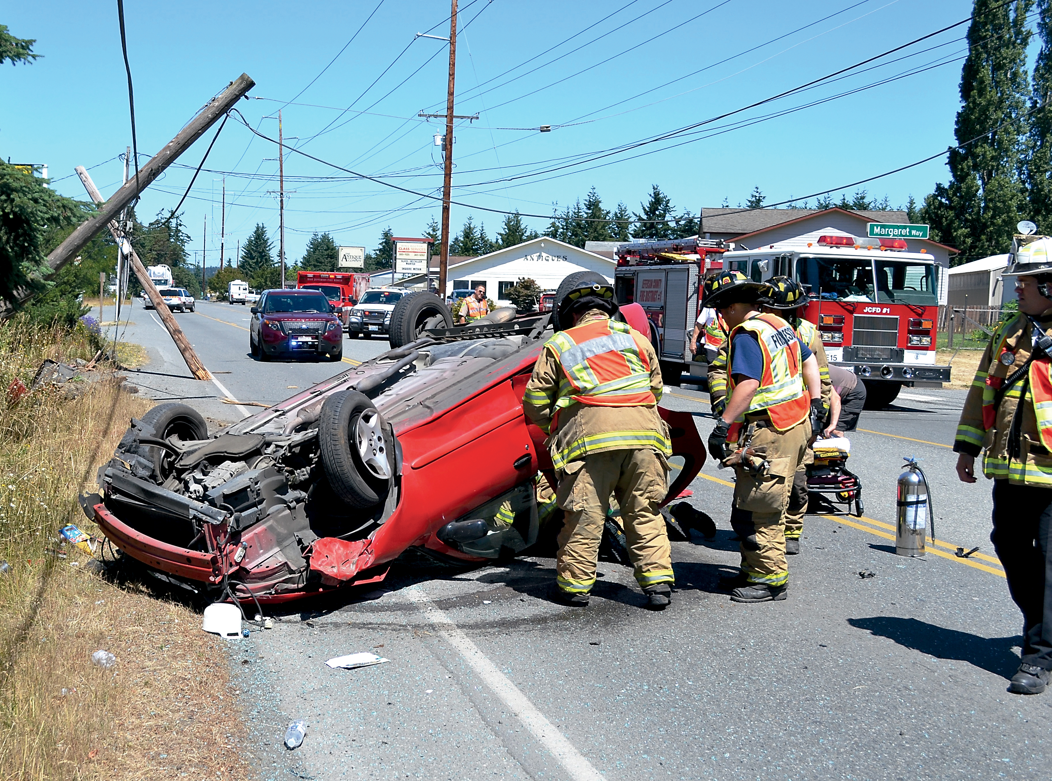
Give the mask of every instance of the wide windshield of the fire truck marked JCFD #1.
[[938, 303], [935, 266], [929, 263], [801, 258], [796, 279], [824, 299], [922, 306]]

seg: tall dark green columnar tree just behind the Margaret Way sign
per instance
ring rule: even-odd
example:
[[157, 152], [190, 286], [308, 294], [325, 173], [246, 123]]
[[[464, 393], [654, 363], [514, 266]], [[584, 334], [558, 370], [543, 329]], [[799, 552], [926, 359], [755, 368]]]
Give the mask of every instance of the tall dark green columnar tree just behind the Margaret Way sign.
[[1029, 211], [1020, 149], [1032, 4], [975, 0], [954, 128], [957, 143], [968, 146], [950, 151], [950, 182], [936, 184], [922, 210], [932, 239], [955, 245], [962, 261], [1006, 251]]

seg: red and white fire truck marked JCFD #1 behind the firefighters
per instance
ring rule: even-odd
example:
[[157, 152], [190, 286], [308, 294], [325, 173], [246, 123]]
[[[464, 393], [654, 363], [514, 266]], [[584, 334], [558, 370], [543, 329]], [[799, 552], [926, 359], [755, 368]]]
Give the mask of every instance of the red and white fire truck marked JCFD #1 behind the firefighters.
[[[628, 300], [629, 288], [636, 301], [641, 293], [653, 297], [648, 314], [654, 325], [663, 327], [662, 361], [670, 364], [671, 371], [671, 364], [679, 363], [680, 368], [697, 374], [700, 366], [688, 366], [691, 345], [686, 343], [699, 312], [701, 285], [694, 280], [704, 273], [702, 262], [688, 256], [676, 265], [667, 260], [666, 251], [646, 262], [636, 260], [633, 268], [623, 263], [641, 258], [632, 253], [632, 247], [619, 247], [619, 283], [625, 276], [625, 283], [619, 284], [619, 301]], [[891, 404], [904, 385], [950, 381], [950, 367], [935, 365], [939, 269], [924, 250], [907, 251], [905, 240], [830, 234], [806, 245], [787, 242], [724, 251], [720, 259], [722, 267], [756, 282], [785, 275], [805, 285], [809, 301], [804, 316], [817, 325], [830, 363], [850, 368], [866, 384], [868, 406]], [[688, 286], [685, 307], [684, 284]], [[643, 292], [647, 290], [654, 292]], [[646, 301], [640, 303], [648, 307]]]

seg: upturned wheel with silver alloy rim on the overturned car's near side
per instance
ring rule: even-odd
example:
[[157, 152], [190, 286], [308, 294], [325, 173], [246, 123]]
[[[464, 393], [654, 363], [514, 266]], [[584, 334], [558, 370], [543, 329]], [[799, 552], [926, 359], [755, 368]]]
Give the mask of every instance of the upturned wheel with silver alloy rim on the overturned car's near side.
[[318, 431], [322, 466], [337, 496], [352, 507], [380, 503], [394, 474], [394, 443], [368, 396], [348, 390], [326, 398]]

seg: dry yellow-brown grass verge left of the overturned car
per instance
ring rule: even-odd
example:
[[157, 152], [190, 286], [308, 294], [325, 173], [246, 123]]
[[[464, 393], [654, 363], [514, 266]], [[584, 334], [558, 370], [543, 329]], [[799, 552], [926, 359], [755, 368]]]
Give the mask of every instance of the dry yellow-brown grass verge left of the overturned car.
[[[90, 359], [90, 334], [0, 327], [0, 391], [44, 357]], [[246, 754], [223, 641], [195, 611], [102, 579], [59, 548], [77, 505], [147, 399], [100, 382], [74, 400], [0, 398], [0, 778], [242, 778]], [[90, 654], [105, 649], [102, 670]]]

